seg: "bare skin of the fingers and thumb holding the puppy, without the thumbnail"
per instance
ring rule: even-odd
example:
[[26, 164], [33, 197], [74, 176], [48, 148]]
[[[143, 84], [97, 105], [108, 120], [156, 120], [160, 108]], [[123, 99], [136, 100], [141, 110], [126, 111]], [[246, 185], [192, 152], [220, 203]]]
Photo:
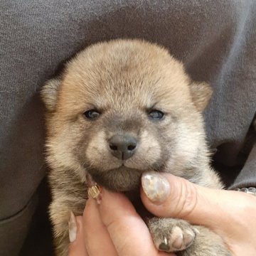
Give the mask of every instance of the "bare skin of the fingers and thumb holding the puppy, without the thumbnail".
[[[255, 196], [205, 188], [171, 174], [157, 175], [166, 178], [169, 187], [161, 203], [141, 189], [142, 202], [151, 213], [210, 228], [235, 256], [256, 255]], [[122, 194], [102, 190], [100, 204], [90, 198], [76, 220], [78, 235], [70, 243], [70, 256], [170, 255], [156, 250], [143, 220]]]

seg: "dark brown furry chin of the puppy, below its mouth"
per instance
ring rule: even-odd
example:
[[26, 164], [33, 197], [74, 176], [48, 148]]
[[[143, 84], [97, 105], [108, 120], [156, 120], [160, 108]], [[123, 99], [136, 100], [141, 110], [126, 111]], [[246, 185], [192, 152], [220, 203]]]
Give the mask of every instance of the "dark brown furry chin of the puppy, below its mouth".
[[143, 171], [145, 170], [129, 169], [125, 166], [104, 172], [95, 169], [88, 170], [96, 183], [110, 191], [116, 192], [134, 191], [139, 189]]

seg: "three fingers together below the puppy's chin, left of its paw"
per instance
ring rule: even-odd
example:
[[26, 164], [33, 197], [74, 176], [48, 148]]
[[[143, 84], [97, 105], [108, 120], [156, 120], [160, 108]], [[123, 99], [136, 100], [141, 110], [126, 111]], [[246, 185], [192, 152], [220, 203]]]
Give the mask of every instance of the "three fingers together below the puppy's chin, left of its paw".
[[122, 194], [102, 189], [100, 204], [89, 198], [70, 256], [172, 256], [156, 250], [149, 230], [132, 203]]

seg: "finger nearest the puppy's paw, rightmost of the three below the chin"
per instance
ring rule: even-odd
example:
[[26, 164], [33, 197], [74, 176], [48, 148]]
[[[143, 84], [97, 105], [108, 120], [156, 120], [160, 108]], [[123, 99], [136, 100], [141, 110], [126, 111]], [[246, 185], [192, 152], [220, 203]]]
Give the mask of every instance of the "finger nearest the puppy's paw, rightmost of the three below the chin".
[[102, 191], [100, 215], [119, 256], [169, 255], [156, 250], [146, 224], [122, 194]]

